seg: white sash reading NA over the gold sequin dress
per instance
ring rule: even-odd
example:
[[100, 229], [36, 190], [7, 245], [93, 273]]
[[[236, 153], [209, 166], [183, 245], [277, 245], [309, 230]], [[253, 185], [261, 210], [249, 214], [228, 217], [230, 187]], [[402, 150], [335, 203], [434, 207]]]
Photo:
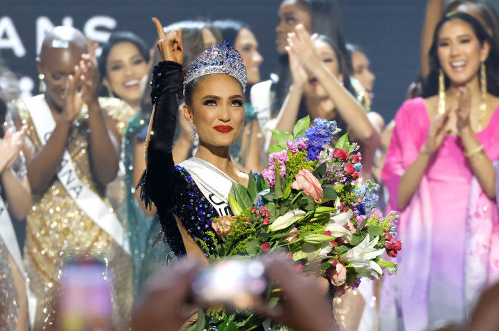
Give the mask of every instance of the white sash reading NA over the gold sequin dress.
[[[25, 100], [25, 102], [31, 119], [33, 120], [33, 124], [35, 125], [35, 129], [38, 132], [38, 138], [42, 145], [45, 145], [50, 134], [52, 134], [52, 131], [56, 127], [52, 112], [45, 101], [45, 95], [36, 95]], [[101, 197], [90, 190], [90, 188], [86, 187], [84, 183], [81, 183], [81, 180], [79, 180], [77, 172], [74, 169], [74, 164], [68, 150], [64, 151], [61, 160], [61, 169], [58, 171], [57, 177], [66, 192], [70, 194], [79, 208], [84, 210], [86, 215], [88, 215], [95, 224], [106, 231], [106, 233], [113, 237], [116, 243], [118, 243], [125, 252], [130, 254], [127, 232], [118, 220], [118, 217], [109, 210], [110, 207], [102, 201]]]

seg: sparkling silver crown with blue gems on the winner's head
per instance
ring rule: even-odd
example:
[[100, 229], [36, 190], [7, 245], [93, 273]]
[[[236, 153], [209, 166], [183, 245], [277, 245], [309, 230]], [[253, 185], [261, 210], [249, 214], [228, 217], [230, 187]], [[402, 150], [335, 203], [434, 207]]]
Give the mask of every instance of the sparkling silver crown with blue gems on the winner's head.
[[230, 75], [237, 79], [243, 86], [243, 91], [246, 91], [246, 83], [248, 82], [246, 67], [241, 54], [230, 45], [229, 38], [218, 46], [209, 47], [191, 64], [184, 78], [184, 88], [193, 79], [210, 74]]

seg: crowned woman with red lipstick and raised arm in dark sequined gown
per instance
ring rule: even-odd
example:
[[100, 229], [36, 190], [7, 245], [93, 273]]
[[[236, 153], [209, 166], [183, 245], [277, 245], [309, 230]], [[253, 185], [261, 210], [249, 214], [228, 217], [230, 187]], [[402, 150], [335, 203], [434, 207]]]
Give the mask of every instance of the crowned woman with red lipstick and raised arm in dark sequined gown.
[[228, 42], [208, 49], [189, 67], [183, 80], [183, 111], [198, 132], [199, 148], [195, 157], [175, 165], [172, 142], [177, 95], [182, 93], [182, 31], [166, 35], [159, 20], [153, 20], [164, 61], [155, 67], [151, 83], [155, 109], [145, 153], [147, 169], [139, 185], [145, 203], [155, 203], [173, 252], [204, 257], [196, 239], [208, 239], [205, 233], [212, 229], [212, 217], [230, 213], [232, 183], [248, 183], [229, 154], [244, 125], [246, 68]]

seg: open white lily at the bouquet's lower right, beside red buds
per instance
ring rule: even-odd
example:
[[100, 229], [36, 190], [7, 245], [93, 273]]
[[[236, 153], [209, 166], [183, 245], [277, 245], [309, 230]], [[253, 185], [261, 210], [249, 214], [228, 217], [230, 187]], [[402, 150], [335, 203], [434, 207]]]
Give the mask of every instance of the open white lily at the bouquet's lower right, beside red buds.
[[378, 263], [372, 261], [385, 252], [384, 248], [374, 248], [378, 241], [379, 236], [370, 240], [370, 236], [367, 234], [360, 244], [340, 256], [340, 262], [352, 265], [359, 276], [377, 277], [378, 274], [381, 275], [383, 270]]

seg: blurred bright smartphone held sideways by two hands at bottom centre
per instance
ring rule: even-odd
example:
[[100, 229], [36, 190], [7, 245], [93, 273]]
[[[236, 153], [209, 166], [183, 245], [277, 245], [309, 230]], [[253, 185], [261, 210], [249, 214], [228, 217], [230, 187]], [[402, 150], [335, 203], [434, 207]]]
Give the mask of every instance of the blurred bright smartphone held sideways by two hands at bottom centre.
[[192, 283], [194, 302], [205, 307], [251, 309], [267, 290], [260, 261], [231, 259], [202, 268]]

